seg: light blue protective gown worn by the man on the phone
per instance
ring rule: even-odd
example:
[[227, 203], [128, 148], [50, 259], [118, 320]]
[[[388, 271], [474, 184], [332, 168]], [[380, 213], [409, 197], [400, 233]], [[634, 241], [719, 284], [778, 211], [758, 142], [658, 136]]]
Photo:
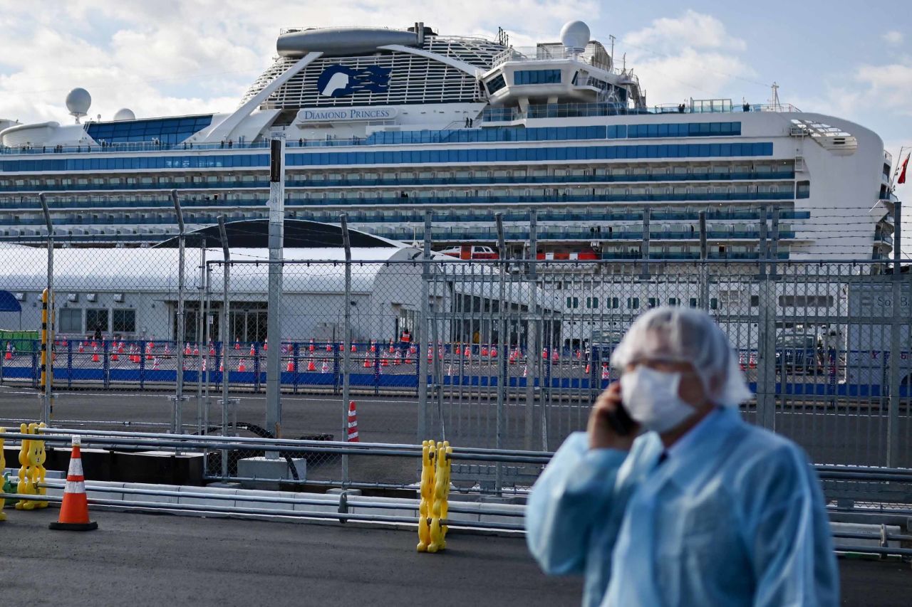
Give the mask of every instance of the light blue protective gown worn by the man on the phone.
[[839, 603], [824, 498], [801, 448], [731, 408], [679, 446], [658, 465], [655, 432], [629, 454], [568, 437], [526, 509], [544, 571], [584, 572], [586, 607]]

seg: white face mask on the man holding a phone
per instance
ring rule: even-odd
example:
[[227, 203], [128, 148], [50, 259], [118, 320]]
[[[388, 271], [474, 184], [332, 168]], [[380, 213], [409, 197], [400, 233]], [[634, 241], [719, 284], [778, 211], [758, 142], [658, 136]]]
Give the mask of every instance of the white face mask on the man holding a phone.
[[681, 374], [656, 371], [637, 365], [621, 376], [621, 402], [642, 427], [659, 434], [668, 432], [696, 413], [678, 396]]

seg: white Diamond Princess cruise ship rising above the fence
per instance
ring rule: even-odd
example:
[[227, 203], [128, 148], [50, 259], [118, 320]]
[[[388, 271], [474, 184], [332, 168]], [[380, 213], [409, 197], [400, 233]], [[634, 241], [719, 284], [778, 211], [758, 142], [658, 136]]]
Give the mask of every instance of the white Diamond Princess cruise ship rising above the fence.
[[[294, 27], [237, 108], [217, 114], [0, 120], [0, 239], [144, 246], [266, 217], [268, 143], [285, 139], [289, 219], [509, 257], [879, 259], [892, 250], [892, 159], [873, 131], [778, 101], [650, 105], [585, 23], [514, 47], [415, 23]], [[61, 108], [62, 117], [66, 116]], [[768, 226], [768, 229], [767, 229]], [[837, 236], [837, 237], [834, 237]], [[648, 242], [648, 248], [645, 243]], [[771, 247], [771, 248], [767, 248]], [[472, 249], [470, 248], [471, 252]]]

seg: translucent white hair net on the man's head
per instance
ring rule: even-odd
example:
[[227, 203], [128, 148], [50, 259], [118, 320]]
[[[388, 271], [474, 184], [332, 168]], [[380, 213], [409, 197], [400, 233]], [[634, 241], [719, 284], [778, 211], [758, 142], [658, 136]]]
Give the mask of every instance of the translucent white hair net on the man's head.
[[612, 353], [611, 364], [623, 370], [645, 360], [690, 363], [717, 405], [739, 406], [751, 397], [729, 338], [700, 310], [662, 306], [640, 315]]

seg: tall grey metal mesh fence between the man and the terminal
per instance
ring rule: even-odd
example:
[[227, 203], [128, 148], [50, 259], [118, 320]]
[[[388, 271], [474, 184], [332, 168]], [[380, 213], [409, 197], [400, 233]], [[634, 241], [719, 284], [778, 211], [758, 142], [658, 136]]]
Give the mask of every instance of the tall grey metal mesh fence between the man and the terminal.
[[[645, 310], [707, 310], [756, 397], [752, 423], [818, 463], [912, 466], [912, 281], [887, 262], [461, 261], [396, 249], [286, 259], [280, 339], [267, 339], [270, 262], [212, 242], [0, 247], [4, 425], [42, 417], [41, 293], [52, 268], [57, 425], [554, 450], [586, 427], [609, 361]], [[208, 247], [208, 248], [206, 248]], [[181, 263], [182, 257], [182, 263]], [[269, 427], [269, 353], [281, 425]], [[182, 368], [179, 374], [178, 369]], [[214, 452], [212, 478], [243, 476]], [[306, 480], [407, 486], [406, 459], [311, 454]], [[454, 465], [465, 489], [522, 489], [539, 468]], [[294, 478], [292, 478], [294, 480]], [[304, 478], [298, 478], [304, 480]]]

